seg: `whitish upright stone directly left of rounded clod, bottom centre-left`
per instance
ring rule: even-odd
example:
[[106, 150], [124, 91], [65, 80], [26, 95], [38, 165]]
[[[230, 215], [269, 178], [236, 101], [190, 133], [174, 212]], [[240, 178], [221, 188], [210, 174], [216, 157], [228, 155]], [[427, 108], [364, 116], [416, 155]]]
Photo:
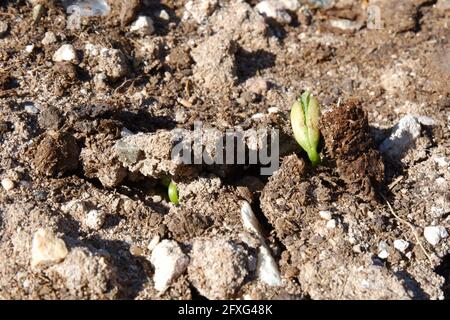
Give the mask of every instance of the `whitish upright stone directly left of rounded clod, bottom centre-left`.
[[177, 242], [163, 240], [153, 249], [150, 262], [155, 267], [155, 289], [164, 292], [186, 270], [189, 257], [181, 251]]

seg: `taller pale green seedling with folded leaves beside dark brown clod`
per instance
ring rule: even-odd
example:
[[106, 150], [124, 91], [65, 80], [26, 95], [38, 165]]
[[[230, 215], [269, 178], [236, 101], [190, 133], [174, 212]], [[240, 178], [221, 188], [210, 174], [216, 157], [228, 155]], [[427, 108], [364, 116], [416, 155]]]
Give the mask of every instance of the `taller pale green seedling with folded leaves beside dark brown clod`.
[[313, 166], [320, 162], [317, 153], [319, 144], [320, 106], [317, 99], [308, 91], [295, 101], [291, 109], [291, 126], [295, 140], [306, 151]]

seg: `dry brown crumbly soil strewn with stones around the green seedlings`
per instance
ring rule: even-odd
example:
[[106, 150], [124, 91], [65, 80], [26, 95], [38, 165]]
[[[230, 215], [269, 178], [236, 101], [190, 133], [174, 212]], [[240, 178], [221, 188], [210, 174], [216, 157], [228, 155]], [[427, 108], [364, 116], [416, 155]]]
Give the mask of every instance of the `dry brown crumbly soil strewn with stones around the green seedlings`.
[[[448, 1], [39, 3], [0, 0], [0, 299], [450, 299]], [[279, 169], [172, 158], [197, 121]]]

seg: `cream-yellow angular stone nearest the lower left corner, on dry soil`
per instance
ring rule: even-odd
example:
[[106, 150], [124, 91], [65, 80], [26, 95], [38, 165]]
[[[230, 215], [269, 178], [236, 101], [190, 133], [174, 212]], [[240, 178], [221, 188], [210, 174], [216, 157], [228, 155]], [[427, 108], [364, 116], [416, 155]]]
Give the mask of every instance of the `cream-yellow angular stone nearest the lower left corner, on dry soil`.
[[38, 229], [31, 244], [31, 266], [59, 263], [67, 256], [68, 250], [62, 239], [49, 229]]

